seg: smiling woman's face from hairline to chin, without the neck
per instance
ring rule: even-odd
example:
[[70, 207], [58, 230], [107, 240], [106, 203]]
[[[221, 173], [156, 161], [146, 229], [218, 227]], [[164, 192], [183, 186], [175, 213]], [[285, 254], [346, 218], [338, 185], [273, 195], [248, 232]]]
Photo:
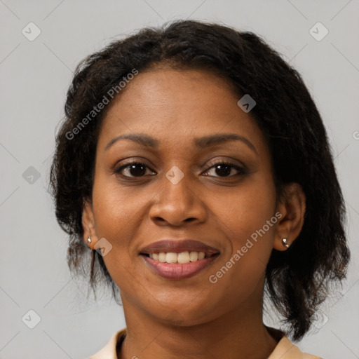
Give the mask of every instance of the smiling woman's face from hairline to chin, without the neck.
[[[105, 239], [125, 311], [194, 325], [260, 305], [276, 190], [264, 136], [239, 98], [209, 72], [158, 68], [140, 72], [111, 104], [86, 228]], [[151, 140], [114, 140], [135, 134]], [[182, 239], [200, 244], [176, 247]], [[202, 251], [187, 264], [154, 254]], [[188, 262], [186, 253], [161, 260], [181, 256]]]

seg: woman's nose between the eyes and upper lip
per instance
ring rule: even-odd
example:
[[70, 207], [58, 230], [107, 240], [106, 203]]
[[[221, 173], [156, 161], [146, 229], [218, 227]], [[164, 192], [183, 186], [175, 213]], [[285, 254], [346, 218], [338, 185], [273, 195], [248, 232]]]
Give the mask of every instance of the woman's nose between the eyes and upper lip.
[[205, 221], [207, 212], [203, 199], [189, 176], [184, 175], [178, 183], [171, 182], [165, 176], [162, 181], [162, 189], [149, 211], [156, 224], [181, 226], [187, 222]]

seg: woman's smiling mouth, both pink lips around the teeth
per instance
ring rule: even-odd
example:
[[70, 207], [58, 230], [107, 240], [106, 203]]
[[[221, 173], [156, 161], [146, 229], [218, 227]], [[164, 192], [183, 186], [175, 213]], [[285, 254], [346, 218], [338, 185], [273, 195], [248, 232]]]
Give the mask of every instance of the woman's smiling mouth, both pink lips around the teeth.
[[[176, 262], [176, 257], [179, 253], [178, 262]], [[191, 259], [190, 262], [189, 253], [191, 257], [194, 255], [194, 259]], [[196, 256], [197, 254], [198, 256]], [[142, 248], [140, 255], [147, 266], [158, 276], [170, 280], [183, 280], [195, 276], [210, 266], [219, 256], [219, 250], [191, 239], [182, 241], [165, 239]], [[184, 260], [181, 264], [179, 263], [181, 262], [179, 256], [187, 257], [187, 260]], [[165, 262], [164, 258], [174, 258], [174, 260], [169, 260], [170, 263], [168, 263]]]

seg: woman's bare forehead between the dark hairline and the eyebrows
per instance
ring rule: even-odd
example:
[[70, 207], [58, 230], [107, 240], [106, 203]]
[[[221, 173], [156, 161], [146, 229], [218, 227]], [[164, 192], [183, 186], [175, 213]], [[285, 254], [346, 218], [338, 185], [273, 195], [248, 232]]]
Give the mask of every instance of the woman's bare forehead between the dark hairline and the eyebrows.
[[171, 147], [188, 144], [193, 137], [237, 133], [263, 147], [262, 131], [238, 107], [239, 98], [227, 79], [208, 71], [140, 72], [109, 105], [98, 148], [122, 133], [149, 133]]

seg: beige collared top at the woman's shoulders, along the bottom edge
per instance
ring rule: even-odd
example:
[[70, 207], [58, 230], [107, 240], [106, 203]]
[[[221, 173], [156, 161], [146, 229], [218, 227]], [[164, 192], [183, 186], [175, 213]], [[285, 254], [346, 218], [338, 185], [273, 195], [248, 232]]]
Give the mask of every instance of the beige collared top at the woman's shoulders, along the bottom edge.
[[[126, 336], [126, 328], [116, 332], [110, 341], [95, 355], [88, 359], [118, 359], [116, 356], [116, 346], [121, 346]], [[297, 346], [285, 336], [278, 342], [276, 348], [272, 351], [267, 359], [322, 359], [316, 355], [302, 353]]]

